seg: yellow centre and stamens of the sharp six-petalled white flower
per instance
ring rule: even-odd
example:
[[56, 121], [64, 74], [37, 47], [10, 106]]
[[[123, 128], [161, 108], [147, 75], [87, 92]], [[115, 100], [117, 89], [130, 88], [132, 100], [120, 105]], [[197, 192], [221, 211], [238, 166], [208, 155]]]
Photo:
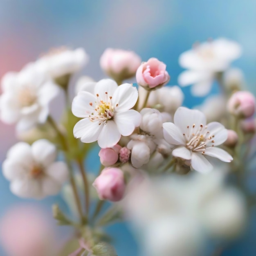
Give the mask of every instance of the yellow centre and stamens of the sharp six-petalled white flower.
[[[99, 99], [99, 94], [96, 94], [97, 101], [95, 101], [95, 112], [91, 113], [89, 115], [89, 118], [91, 121], [99, 121], [99, 124], [101, 124], [104, 121], [107, 121], [111, 119], [114, 116], [114, 106], [112, 106], [111, 99], [112, 97], [108, 97], [108, 92], [106, 93], [105, 101]], [[90, 106], [92, 106], [93, 103], [90, 102]], [[117, 104], [118, 106], [118, 104]]]

